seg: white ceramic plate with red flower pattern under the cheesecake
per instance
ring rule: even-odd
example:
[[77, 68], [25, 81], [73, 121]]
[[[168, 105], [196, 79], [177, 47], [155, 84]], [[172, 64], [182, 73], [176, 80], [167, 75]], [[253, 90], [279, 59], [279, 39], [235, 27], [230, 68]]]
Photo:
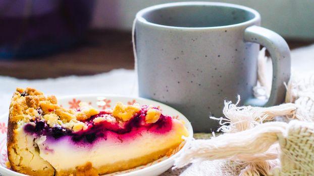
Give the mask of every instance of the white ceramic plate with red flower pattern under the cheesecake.
[[[132, 97], [122, 97], [122, 96], [113, 96], [113, 95], [76, 95], [76, 96], [67, 96], [58, 98], [58, 103], [65, 108], [78, 108], [80, 102], [88, 102], [91, 106], [97, 107], [98, 109], [112, 108], [117, 102], [122, 102], [124, 104], [133, 105], [134, 103], [139, 103], [140, 105], [153, 105], [160, 106], [163, 110], [163, 114], [172, 116], [173, 118], [181, 119], [185, 121], [185, 126], [188, 129], [189, 135], [193, 136], [193, 130], [190, 122], [177, 110], [164, 105], [159, 102], [152, 100], [142, 99], [142, 98], [132, 98]], [[6, 162], [8, 161], [7, 156], [7, 129], [8, 129], [8, 114], [0, 116], [0, 175], [10, 175], [10, 176], [22, 176], [21, 174], [15, 171], [12, 171], [7, 168]], [[106, 176], [113, 175], [123, 175], [123, 176], [135, 176], [135, 175], [159, 175], [169, 169], [173, 163], [174, 158], [180, 154], [181, 149], [184, 147], [184, 144], [178, 146], [176, 150], [173, 151], [168, 156], [155, 160], [146, 165], [141, 165], [136, 168], [129, 170], [119, 171], [115, 173], [107, 174]]]

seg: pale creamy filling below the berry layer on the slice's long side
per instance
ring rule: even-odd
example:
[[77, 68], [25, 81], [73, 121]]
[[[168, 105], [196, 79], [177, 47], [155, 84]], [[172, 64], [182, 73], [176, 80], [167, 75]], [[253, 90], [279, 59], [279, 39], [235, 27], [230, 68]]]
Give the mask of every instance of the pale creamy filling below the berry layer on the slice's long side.
[[188, 133], [183, 124], [173, 120], [173, 128], [165, 134], [143, 132], [133, 140], [117, 140], [108, 133], [107, 140], [95, 141], [92, 145], [74, 144], [71, 137], [58, 140], [46, 140], [42, 136], [35, 140], [39, 147], [40, 157], [49, 162], [57, 171], [73, 169], [76, 166], [92, 162], [98, 168], [106, 164], [129, 160], [167, 149], [182, 142], [182, 136]]

